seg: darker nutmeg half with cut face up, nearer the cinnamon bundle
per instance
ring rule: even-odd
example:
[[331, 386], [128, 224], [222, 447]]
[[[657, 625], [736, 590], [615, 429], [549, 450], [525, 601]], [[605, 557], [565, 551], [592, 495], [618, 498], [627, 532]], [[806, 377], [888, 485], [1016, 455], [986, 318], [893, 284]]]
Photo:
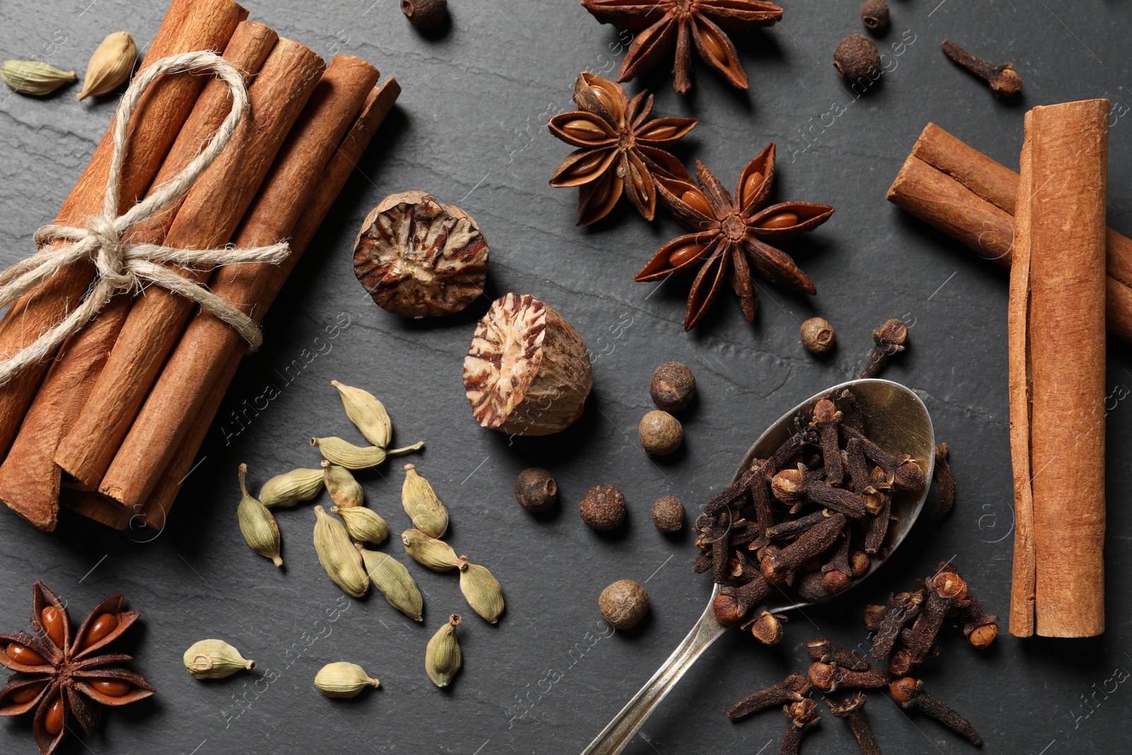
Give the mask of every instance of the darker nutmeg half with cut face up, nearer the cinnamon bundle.
[[420, 319], [458, 312], [483, 293], [488, 244], [460, 207], [423, 191], [389, 195], [354, 240], [354, 275], [379, 307]]

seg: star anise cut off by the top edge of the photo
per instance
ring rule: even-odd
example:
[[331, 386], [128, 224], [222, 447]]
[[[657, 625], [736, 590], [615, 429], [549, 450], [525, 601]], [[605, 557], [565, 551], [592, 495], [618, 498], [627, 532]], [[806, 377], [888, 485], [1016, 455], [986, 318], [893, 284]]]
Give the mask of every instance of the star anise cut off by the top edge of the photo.
[[782, 9], [761, 0], [582, 0], [582, 6], [602, 24], [636, 32], [621, 61], [619, 81], [640, 76], [676, 48], [676, 91], [692, 88], [692, 44], [731, 86], [747, 88], [747, 74], [739, 63], [728, 32], [749, 32], [782, 20]]

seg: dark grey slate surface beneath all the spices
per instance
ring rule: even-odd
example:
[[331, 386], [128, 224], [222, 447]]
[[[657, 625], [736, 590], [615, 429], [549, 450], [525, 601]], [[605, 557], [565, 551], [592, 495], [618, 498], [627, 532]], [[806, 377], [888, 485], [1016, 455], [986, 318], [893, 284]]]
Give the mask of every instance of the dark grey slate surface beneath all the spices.
[[[779, 199], [827, 203], [832, 221], [791, 247], [818, 295], [761, 286], [748, 326], [730, 293], [693, 334], [681, 329], [686, 282], [635, 284], [633, 274], [678, 226], [623, 209], [592, 229], [574, 226], [575, 192], [547, 186], [568, 147], [549, 137], [549, 114], [572, 109], [578, 70], [619, 63], [617, 32], [600, 27], [573, 0], [550, 3], [453, 0], [440, 35], [412, 29], [394, 0], [251, 2], [252, 18], [323, 54], [361, 55], [404, 87], [396, 111], [361, 162], [265, 324], [266, 346], [247, 360], [164, 532], [120, 533], [67, 517], [55, 535], [0, 516], [0, 626], [26, 627], [29, 587], [44, 580], [76, 619], [108, 594], [125, 592], [144, 620], [126, 643], [136, 668], [160, 689], [149, 702], [111, 712], [100, 733], [67, 753], [577, 753], [653, 672], [705, 602], [706, 577], [692, 573], [689, 537], [668, 539], [649, 507], [671, 494], [689, 506], [727, 482], [752, 439], [801, 398], [856, 370], [869, 332], [890, 317], [914, 324], [912, 348], [887, 377], [917, 388], [937, 437], [953, 449], [959, 504], [944, 525], [917, 526], [885, 569], [835, 603], [791, 616], [774, 649], [738, 633], [724, 636], [666, 701], [626, 750], [771, 753], [783, 730], [770, 712], [731, 724], [723, 711], [748, 693], [806, 667], [801, 644], [818, 634], [846, 644], [866, 640], [865, 602], [908, 586], [935, 563], [954, 558], [988, 609], [1006, 614], [1012, 548], [1006, 401], [1006, 277], [954, 242], [884, 201], [907, 151], [929, 120], [995, 158], [1017, 164], [1028, 106], [1086, 97], [1113, 101], [1109, 222], [1132, 233], [1132, 9], [1118, 2], [972, 0], [893, 2], [893, 29], [881, 43], [887, 74], [856, 100], [830, 65], [844, 34], [860, 31], [858, 3], [789, 2], [786, 23], [741, 44], [749, 92], [734, 92], [696, 69], [695, 88], [677, 96], [668, 75], [648, 86], [662, 114], [700, 119], [677, 151], [704, 160], [732, 185], [767, 141], [779, 144]], [[3, 58], [40, 58], [83, 70], [108, 33], [128, 29], [147, 43], [164, 14], [156, 0], [16, 0], [0, 6]], [[907, 37], [904, 36], [907, 34]], [[901, 38], [909, 42], [895, 51]], [[996, 60], [1013, 60], [1026, 81], [1017, 103], [957, 70], [940, 52], [951, 37]], [[76, 87], [45, 101], [10, 95], [0, 104], [0, 255], [32, 251], [32, 233], [57, 212], [86, 164], [114, 98], [77, 103]], [[824, 130], [813, 125], [823, 114]], [[813, 130], [809, 130], [813, 127]], [[809, 132], [809, 141], [803, 132]], [[361, 218], [393, 191], [424, 189], [455, 203], [491, 244], [489, 293], [529, 292], [559, 309], [598, 358], [584, 418], [558, 437], [516, 439], [480, 429], [461, 386], [461, 358], [481, 300], [465, 316], [413, 323], [374, 306], [350, 268]], [[834, 323], [839, 348], [821, 362], [798, 345], [798, 324], [815, 314]], [[333, 331], [335, 324], [338, 331]], [[336, 337], [328, 340], [326, 328]], [[317, 350], [321, 349], [323, 353]], [[281, 384], [278, 370], [303, 350], [316, 353], [258, 415], [233, 424], [231, 412]], [[1108, 632], [1078, 641], [1003, 636], [978, 653], [946, 636], [923, 671], [929, 688], [966, 712], [988, 753], [1113, 753], [1132, 741], [1129, 692], [1132, 609], [1124, 584], [1132, 531], [1124, 505], [1132, 484], [1132, 387], [1127, 348], [1108, 350]], [[650, 409], [652, 369], [689, 364], [700, 400], [684, 417], [687, 444], [671, 460], [650, 460], [635, 424]], [[1072, 369], [1072, 364], [1066, 364]], [[456, 580], [410, 568], [427, 594], [417, 626], [384, 600], [346, 600], [326, 578], [310, 544], [310, 507], [278, 516], [286, 567], [250, 552], [235, 526], [235, 467], [254, 484], [317, 456], [311, 435], [355, 437], [331, 379], [365, 386], [389, 407], [397, 440], [423, 438], [412, 458], [452, 513], [452, 544], [489, 566], [507, 612], [490, 627], [466, 611]], [[233, 429], [239, 430], [238, 432]], [[401, 460], [363, 478], [372, 506], [398, 532]], [[543, 518], [512, 496], [516, 472], [554, 470], [561, 511]], [[577, 518], [583, 491], [620, 486], [629, 524], [598, 537]], [[324, 501], [325, 503], [325, 501]], [[934, 504], [929, 500], [928, 505]], [[401, 547], [386, 549], [401, 558]], [[652, 615], [642, 628], [610, 636], [599, 591], [617, 578], [642, 582]], [[449, 690], [423, 674], [424, 644], [449, 611], [468, 614], [466, 658]], [[181, 653], [203, 637], [224, 637], [259, 662], [228, 681], [196, 681]], [[362, 663], [381, 689], [331, 703], [311, 685], [333, 660]], [[906, 715], [884, 696], [869, 704], [886, 753], [960, 753], [969, 745], [931, 720]], [[849, 753], [855, 745], [831, 715], [807, 753]], [[31, 723], [0, 726], [0, 750], [32, 753]]]

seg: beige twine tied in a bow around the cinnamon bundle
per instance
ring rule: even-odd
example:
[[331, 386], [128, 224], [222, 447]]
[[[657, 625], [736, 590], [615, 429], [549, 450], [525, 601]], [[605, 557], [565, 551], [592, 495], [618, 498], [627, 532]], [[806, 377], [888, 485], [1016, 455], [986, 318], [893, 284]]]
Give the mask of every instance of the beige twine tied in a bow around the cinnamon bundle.
[[[232, 110], [196, 157], [166, 183], [154, 188], [149, 195], [118, 215], [122, 161], [126, 154], [130, 115], [146, 88], [163, 74], [214, 71], [228, 85]], [[234, 328], [255, 351], [263, 335], [255, 320], [228, 303], [205, 286], [180, 275], [165, 264], [183, 268], [212, 269], [222, 265], [246, 263], [278, 264], [290, 254], [286, 243], [268, 247], [235, 249], [178, 249], [128, 239], [130, 230], [172, 206], [196, 183], [232, 138], [248, 109], [248, 93], [243, 78], [234, 66], [212, 52], [187, 52], [162, 58], [142, 70], [122, 95], [122, 104], [114, 121], [114, 152], [106, 178], [106, 194], [101, 213], [94, 213], [85, 228], [44, 225], [35, 232], [40, 251], [16, 263], [0, 273], [0, 308], [17, 301], [25, 293], [63, 268], [86, 260], [94, 265], [95, 277], [89, 291], [61, 321], [44, 331], [8, 359], [0, 361], [0, 385], [7, 383], [28, 364], [53, 354], [60, 344], [93, 319], [118, 293], [142, 291], [153, 283], [185, 297]], [[55, 247], [54, 242], [62, 246]]]

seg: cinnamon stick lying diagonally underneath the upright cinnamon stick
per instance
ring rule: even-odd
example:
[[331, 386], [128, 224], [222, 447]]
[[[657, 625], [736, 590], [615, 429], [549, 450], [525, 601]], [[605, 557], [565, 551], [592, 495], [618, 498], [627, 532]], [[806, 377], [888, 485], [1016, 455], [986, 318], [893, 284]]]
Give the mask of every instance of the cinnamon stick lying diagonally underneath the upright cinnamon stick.
[[[1003, 267], [1011, 263], [1018, 173], [928, 123], [889, 201]], [[1132, 343], [1132, 239], [1107, 231], [1107, 323]]]

